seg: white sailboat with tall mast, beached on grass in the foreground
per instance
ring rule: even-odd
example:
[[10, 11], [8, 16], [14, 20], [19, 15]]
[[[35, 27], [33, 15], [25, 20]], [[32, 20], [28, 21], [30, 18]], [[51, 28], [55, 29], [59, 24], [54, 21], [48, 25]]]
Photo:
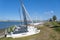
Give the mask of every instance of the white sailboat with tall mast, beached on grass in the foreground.
[[[40, 32], [37, 28], [35, 28], [32, 25], [28, 25], [27, 17], [30, 18], [23, 2], [21, 1], [21, 8], [22, 8], [22, 14], [23, 14], [23, 19], [24, 19], [24, 24], [20, 26], [16, 26], [15, 30], [11, 32], [11, 34], [7, 34], [6, 37], [12, 37], [12, 38], [18, 38], [18, 37], [25, 37], [25, 36], [30, 36], [34, 35]], [[31, 20], [31, 24], [33, 24], [33, 21]]]

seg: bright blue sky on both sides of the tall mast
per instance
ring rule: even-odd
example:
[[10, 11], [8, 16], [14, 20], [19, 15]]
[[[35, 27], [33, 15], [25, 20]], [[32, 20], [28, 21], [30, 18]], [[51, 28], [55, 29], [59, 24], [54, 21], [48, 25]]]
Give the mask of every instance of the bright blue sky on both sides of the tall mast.
[[[47, 20], [53, 15], [60, 19], [60, 0], [23, 0], [32, 19]], [[0, 20], [20, 20], [19, 0], [0, 0]]]

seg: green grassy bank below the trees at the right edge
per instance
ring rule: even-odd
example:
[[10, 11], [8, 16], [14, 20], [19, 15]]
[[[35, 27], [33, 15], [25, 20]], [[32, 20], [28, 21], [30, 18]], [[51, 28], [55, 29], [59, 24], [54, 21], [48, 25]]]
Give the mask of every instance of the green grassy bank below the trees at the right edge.
[[53, 28], [54, 31], [60, 33], [60, 24], [57, 21], [45, 23], [47, 27]]

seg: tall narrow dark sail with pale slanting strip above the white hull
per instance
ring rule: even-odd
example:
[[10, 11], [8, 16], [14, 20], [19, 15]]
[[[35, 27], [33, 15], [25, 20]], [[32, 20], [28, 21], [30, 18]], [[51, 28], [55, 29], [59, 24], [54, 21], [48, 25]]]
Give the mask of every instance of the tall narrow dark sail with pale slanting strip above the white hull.
[[23, 14], [23, 19], [24, 19], [24, 25], [27, 25], [27, 21], [29, 20], [31, 23], [33, 23], [29, 13], [27, 12], [22, 0], [20, 1], [21, 2], [21, 8], [22, 8], [22, 14]]

